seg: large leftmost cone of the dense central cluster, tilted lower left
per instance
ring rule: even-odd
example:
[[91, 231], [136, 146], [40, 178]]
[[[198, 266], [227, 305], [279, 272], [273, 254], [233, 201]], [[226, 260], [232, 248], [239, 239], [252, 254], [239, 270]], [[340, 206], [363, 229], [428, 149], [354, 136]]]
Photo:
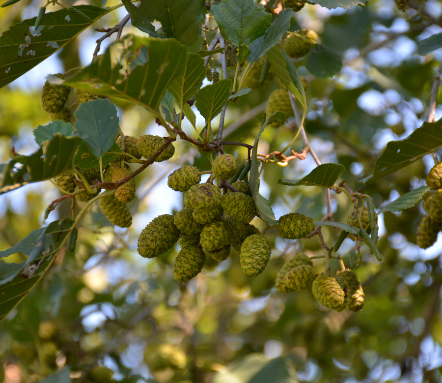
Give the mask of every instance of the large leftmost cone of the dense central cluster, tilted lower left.
[[170, 214], [154, 218], [138, 237], [138, 254], [144, 258], [154, 258], [166, 253], [180, 236]]

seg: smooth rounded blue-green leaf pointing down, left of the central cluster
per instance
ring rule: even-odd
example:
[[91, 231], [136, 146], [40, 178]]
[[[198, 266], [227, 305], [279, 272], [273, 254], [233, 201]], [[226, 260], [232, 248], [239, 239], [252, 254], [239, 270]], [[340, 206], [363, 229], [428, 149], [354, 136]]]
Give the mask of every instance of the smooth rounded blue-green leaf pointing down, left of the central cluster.
[[75, 112], [75, 130], [98, 158], [115, 143], [119, 118], [111, 101], [98, 98], [84, 102]]

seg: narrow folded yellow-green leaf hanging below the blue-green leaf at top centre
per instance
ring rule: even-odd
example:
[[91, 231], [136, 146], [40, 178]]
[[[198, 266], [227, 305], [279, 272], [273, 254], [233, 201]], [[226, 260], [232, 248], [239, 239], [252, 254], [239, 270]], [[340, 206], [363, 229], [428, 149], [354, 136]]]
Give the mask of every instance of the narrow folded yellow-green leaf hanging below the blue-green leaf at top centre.
[[267, 58], [272, 64], [272, 69], [276, 76], [279, 77], [281, 83], [284, 84], [287, 89], [296, 97], [296, 99], [301, 103], [306, 110], [306, 99], [304, 86], [299, 77], [298, 71], [293, 65], [292, 60], [287, 56], [287, 54], [282, 50], [281, 46], [275, 45], [267, 53]]

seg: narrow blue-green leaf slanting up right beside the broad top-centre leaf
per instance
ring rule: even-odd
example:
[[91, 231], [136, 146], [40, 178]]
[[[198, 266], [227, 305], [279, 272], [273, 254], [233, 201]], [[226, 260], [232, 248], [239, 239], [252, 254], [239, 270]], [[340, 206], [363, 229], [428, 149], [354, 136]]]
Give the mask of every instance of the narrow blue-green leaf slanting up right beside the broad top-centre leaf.
[[261, 57], [264, 57], [270, 48], [275, 46], [290, 28], [290, 19], [293, 16], [293, 10], [284, 9], [279, 12], [278, 17], [270, 25], [270, 27], [264, 33], [264, 36], [257, 38], [250, 44], [251, 55], [249, 57], [250, 65], [253, 62], [258, 61]]

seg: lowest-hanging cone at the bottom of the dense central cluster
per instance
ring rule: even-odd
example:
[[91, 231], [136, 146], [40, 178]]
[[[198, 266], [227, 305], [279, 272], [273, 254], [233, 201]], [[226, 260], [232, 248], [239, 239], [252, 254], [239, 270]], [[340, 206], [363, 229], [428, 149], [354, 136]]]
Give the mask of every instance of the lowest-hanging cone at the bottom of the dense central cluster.
[[172, 272], [177, 282], [187, 282], [199, 274], [206, 261], [204, 252], [196, 246], [186, 246], [175, 258]]

